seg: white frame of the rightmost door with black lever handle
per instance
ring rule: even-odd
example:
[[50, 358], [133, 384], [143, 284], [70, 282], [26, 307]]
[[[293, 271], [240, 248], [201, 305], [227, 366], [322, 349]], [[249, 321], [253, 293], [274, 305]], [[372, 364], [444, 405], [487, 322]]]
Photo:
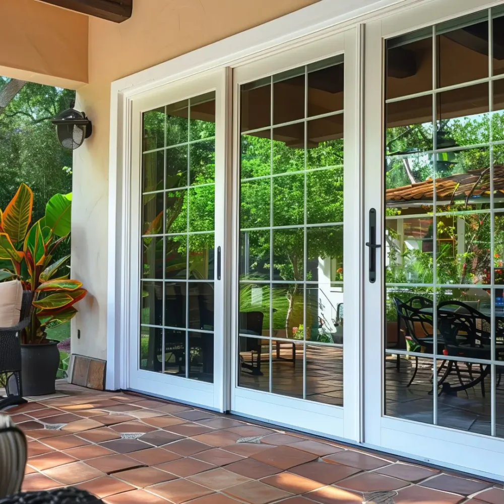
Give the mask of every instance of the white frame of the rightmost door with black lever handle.
[[[484, 4], [484, 5], [482, 5]], [[448, 0], [425, 4], [391, 14], [366, 24], [365, 40], [365, 236], [367, 215], [375, 208], [376, 242], [384, 229], [384, 44], [385, 39], [401, 35], [464, 14], [485, 10], [501, 2]], [[364, 279], [364, 440], [365, 444], [387, 452], [448, 466], [456, 470], [504, 479], [504, 439], [465, 433], [442, 426], [384, 416], [384, 270], [383, 247], [376, 258], [376, 282]], [[368, 271], [368, 253], [365, 268]]]

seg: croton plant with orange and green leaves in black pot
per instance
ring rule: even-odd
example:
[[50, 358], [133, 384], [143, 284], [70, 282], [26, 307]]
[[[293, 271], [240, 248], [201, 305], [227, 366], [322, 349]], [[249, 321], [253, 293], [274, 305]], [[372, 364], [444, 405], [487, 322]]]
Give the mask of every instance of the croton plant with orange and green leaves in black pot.
[[86, 294], [82, 283], [69, 279], [70, 256], [53, 261], [58, 245], [70, 235], [72, 194], [54, 195], [45, 215], [31, 225], [33, 193], [21, 184], [4, 211], [0, 210], [0, 282], [19, 278], [33, 292], [31, 324], [25, 344], [45, 343], [47, 328], [75, 317], [75, 303]]

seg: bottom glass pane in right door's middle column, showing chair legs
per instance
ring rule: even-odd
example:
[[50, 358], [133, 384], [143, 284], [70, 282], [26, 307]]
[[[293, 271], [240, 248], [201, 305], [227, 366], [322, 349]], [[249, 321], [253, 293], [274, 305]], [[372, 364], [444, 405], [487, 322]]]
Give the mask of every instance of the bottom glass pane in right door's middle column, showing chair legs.
[[437, 424], [491, 435], [490, 365], [438, 361]]

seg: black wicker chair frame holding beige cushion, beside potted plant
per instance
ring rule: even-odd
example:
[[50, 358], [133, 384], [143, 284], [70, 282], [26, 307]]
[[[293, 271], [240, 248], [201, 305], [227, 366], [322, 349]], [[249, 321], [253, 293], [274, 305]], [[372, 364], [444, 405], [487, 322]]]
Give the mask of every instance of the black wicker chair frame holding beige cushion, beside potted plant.
[[23, 399], [21, 381], [21, 340], [20, 333], [31, 321], [31, 291], [23, 291], [20, 321], [13, 327], [0, 327], [0, 375], [4, 377], [7, 397], [0, 398], [0, 410], [16, 404], [26, 403]]

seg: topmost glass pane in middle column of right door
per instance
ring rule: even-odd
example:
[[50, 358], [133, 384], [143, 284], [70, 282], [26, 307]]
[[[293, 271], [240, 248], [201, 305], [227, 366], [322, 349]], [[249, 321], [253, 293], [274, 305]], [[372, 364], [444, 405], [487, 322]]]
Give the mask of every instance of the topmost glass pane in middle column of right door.
[[488, 77], [488, 11], [437, 25], [437, 87]]

